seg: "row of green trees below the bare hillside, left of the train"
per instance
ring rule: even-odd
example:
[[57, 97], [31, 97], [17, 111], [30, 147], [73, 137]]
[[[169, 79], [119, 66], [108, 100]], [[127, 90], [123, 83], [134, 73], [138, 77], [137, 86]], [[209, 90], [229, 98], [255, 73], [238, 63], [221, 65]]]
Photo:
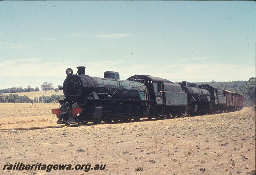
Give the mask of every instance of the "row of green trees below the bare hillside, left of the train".
[[0, 103], [53, 103], [63, 97], [63, 95], [55, 95], [51, 96], [39, 96], [39, 98], [35, 97], [34, 99], [30, 99], [27, 95], [19, 96], [17, 94], [9, 94], [4, 95], [0, 93]]

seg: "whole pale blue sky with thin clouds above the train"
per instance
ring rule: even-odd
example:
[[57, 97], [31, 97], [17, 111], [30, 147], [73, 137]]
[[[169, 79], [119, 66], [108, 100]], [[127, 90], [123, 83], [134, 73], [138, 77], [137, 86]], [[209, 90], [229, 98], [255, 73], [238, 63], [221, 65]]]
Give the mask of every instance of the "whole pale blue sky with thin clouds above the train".
[[86, 66], [170, 81], [255, 76], [254, 1], [0, 1], [0, 89]]

